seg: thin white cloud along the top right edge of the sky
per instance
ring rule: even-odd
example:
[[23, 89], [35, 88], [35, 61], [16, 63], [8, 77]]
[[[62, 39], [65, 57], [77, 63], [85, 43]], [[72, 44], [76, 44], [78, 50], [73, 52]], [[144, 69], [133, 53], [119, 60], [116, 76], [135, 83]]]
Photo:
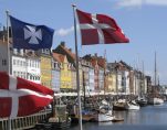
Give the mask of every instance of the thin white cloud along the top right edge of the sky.
[[117, 2], [118, 7], [142, 7], [144, 4], [167, 6], [167, 0], [122, 0]]

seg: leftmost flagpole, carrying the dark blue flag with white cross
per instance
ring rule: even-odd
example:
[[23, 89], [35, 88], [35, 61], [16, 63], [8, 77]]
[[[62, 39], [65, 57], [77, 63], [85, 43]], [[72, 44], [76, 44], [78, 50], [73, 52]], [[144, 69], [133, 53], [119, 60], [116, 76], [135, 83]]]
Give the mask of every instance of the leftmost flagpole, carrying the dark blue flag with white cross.
[[[10, 43], [9, 43], [9, 11], [6, 11], [7, 14], [7, 50], [8, 50], [8, 74], [10, 75]], [[8, 118], [8, 130], [11, 130], [11, 119]]]

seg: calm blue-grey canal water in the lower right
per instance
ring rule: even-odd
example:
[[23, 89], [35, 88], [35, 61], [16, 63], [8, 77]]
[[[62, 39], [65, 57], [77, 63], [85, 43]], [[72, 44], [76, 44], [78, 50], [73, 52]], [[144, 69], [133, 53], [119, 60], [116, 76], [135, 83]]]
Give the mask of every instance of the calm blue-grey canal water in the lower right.
[[[114, 111], [121, 122], [86, 122], [83, 130], [167, 130], [167, 102], [160, 106], [146, 106], [140, 110]], [[80, 130], [73, 126], [69, 130]]]

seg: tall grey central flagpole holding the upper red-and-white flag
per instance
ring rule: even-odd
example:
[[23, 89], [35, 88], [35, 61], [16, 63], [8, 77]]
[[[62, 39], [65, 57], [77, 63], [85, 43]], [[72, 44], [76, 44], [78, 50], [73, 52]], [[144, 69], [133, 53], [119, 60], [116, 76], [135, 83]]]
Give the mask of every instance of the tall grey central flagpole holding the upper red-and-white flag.
[[76, 19], [75, 9], [76, 6], [72, 4], [74, 14], [74, 36], [75, 36], [75, 58], [76, 58], [76, 86], [77, 86], [77, 102], [79, 102], [79, 117], [80, 117], [80, 130], [82, 129], [82, 107], [81, 107], [81, 95], [80, 95], [80, 75], [79, 75], [79, 54], [77, 54], [77, 35], [76, 35]]

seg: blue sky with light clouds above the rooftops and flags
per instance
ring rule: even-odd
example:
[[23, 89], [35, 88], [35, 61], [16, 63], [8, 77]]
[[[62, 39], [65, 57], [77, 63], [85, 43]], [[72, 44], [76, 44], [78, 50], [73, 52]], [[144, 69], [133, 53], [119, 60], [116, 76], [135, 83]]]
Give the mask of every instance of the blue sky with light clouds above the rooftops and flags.
[[108, 63], [122, 59], [154, 77], [156, 52], [159, 82], [167, 85], [167, 0], [0, 0], [0, 29], [7, 23], [8, 10], [21, 21], [54, 29], [52, 48], [64, 41], [75, 52], [72, 4], [114, 18], [129, 39], [128, 44], [82, 46], [77, 32], [80, 56], [104, 56], [106, 52]]

